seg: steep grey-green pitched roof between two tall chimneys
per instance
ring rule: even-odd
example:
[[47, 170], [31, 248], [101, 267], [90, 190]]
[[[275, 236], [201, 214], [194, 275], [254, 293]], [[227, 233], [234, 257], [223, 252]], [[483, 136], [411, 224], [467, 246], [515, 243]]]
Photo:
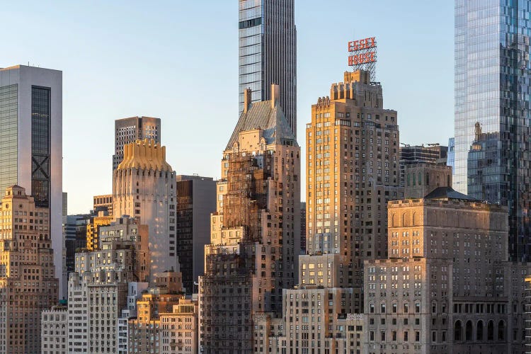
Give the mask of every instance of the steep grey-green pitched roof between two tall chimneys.
[[263, 130], [266, 144], [284, 144], [283, 141], [290, 140], [293, 146], [299, 146], [280, 105], [276, 103], [273, 108], [271, 101], [263, 101], [251, 103], [249, 110], [241, 113], [227, 144], [227, 150], [232, 149], [234, 143], [238, 142], [240, 132], [256, 129]]

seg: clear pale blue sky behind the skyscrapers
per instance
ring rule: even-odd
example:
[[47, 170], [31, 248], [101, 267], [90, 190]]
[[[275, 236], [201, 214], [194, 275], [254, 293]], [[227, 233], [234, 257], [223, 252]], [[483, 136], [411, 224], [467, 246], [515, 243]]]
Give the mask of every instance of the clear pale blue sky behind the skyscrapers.
[[[6, 1], [1, 13], [0, 67], [63, 72], [70, 214], [111, 193], [118, 118], [161, 118], [173, 169], [219, 177], [238, 118], [238, 1]], [[348, 40], [368, 36], [377, 37], [377, 80], [384, 108], [399, 112], [401, 142], [447, 144], [454, 1], [296, 0], [295, 22], [303, 150], [312, 103], [342, 81]]]

